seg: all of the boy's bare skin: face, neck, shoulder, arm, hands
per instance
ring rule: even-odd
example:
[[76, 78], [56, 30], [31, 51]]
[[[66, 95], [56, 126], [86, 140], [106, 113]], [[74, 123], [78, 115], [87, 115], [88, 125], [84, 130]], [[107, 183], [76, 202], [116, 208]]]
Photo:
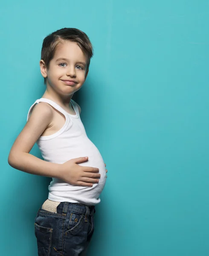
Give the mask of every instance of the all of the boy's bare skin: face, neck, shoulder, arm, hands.
[[[57, 61], [58, 58], [63, 57], [68, 61]], [[47, 78], [46, 91], [42, 98], [51, 99], [68, 113], [75, 114], [70, 106], [70, 99], [81, 88], [87, 77], [86, 63], [87, 57], [80, 47], [74, 42], [64, 41], [56, 49], [48, 69], [44, 61], [40, 61], [41, 74]], [[65, 79], [72, 79], [75, 84], [69, 86], [65, 83]], [[80, 106], [78, 109], [81, 113]], [[79, 165], [79, 163], [87, 161], [87, 158], [78, 157], [63, 164], [57, 164], [29, 154], [40, 136], [54, 134], [62, 128], [64, 122], [64, 115], [49, 104], [40, 102], [35, 105], [26, 125], [12, 145], [8, 163], [15, 169], [34, 175], [56, 177], [78, 186], [93, 186], [93, 183], [99, 182], [101, 175], [97, 168]]]

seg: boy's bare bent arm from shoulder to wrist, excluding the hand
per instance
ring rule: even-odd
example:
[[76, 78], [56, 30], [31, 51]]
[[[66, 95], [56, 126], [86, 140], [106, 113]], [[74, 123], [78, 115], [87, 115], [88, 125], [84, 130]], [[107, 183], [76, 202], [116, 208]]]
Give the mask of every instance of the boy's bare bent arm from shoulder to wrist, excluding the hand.
[[60, 164], [49, 163], [29, 154], [38, 138], [52, 120], [52, 108], [45, 102], [35, 105], [23, 130], [18, 135], [9, 153], [8, 163], [23, 172], [46, 177], [58, 177]]

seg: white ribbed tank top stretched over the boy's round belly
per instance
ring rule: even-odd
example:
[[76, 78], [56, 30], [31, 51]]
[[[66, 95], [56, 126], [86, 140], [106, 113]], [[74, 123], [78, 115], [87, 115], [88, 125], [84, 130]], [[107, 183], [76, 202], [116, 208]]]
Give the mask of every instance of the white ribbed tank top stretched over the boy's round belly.
[[80, 166], [91, 166], [99, 168], [101, 177], [99, 183], [92, 187], [72, 185], [64, 180], [53, 178], [49, 185], [48, 199], [57, 202], [68, 201], [87, 205], [99, 204], [102, 190], [106, 182], [106, 167], [99, 150], [87, 137], [83, 123], [81, 122], [78, 105], [71, 99], [71, 105], [76, 113], [67, 113], [61, 106], [50, 99], [37, 99], [30, 107], [27, 120], [35, 104], [46, 102], [53, 108], [64, 114], [65, 124], [55, 134], [41, 136], [37, 140], [41, 155], [45, 161], [51, 163], [65, 163], [77, 157], [88, 157], [88, 160], [79, 163]]

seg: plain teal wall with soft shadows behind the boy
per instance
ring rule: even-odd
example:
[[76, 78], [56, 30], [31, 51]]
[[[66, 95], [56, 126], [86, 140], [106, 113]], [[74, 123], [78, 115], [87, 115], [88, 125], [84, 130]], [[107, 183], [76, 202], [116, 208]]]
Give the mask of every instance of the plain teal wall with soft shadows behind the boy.
[[[63, 27], [95, 49], [73, 98], [107, 164], [88, 256], [209, 255], [209, 2], [0, 3], [1, 255], [36, 256], [34, 218], [50, 178], [9, 166], [44, 93], [44, 37]], [[37, 145], [31, 151], [41, 157]]]

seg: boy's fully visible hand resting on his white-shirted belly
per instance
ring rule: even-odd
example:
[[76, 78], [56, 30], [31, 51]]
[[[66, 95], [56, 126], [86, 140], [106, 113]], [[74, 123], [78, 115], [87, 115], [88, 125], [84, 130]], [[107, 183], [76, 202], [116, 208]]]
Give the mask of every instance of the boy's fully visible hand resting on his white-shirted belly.
[[87, 160], [88, 157], [78, 157], [61, 164], [58, 178], [77, 186], [90, 187], [93, 186], [93, 183], [99, 183], [101, 175], [99, 174], [98, 168], [78, 165], [78, 163]]

